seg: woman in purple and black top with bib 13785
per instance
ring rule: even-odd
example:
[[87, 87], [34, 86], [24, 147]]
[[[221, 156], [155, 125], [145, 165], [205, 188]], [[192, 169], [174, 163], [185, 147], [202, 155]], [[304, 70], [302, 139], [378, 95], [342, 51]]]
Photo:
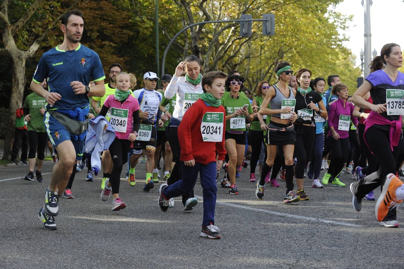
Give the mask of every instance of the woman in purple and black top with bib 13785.
[[[395, 43], [385, 44], [380, 57], [376, 58], [372, 67], [378, 66], [378, 70], [366, 77], [353, 94], [352, 101], [363, 109], [371, 110], [365, 121], [363, 138], [380, 166], [379, 171], [352, 183], [350, 189], [353, 194], [353, 208], [360, 211], [364, 196], [381, 185], [382, 192], [376, 202], [375, 217], [380, 225], [398, 227], [396, 204], [402, 203], [404, 198], [404, 185], [394, 176], [396, 162], [403, 147], [401, 126], [404, 113], [404, 74], [398, 71], [403, 61], [402, 50]], [[373, 103], [364, 99], [368, 92]]]

